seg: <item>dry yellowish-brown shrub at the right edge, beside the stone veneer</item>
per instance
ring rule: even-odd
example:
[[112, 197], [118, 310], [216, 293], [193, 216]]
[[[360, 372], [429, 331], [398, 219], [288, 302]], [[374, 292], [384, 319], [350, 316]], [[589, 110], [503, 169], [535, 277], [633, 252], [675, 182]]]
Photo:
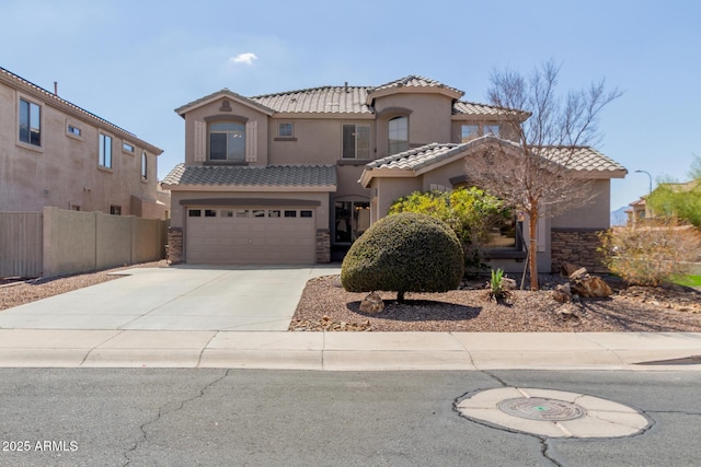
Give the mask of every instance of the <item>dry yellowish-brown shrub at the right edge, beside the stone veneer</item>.
[[627, 226], [600, 235], [604, 264], [623, 280], [659, 285], [687, 273], [690, 261], [701, 259], [701, 235], [691, 226], [674, 223]]

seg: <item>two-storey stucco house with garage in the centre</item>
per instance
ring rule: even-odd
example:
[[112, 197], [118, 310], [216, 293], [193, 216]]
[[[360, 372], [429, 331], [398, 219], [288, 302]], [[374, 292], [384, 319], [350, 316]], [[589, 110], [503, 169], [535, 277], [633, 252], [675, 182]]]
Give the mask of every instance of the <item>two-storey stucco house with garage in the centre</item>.
[[[185, 119], [185, 162], [162, 183], [172, 195], [171, 260], [336, 258], [387, 215], [394, 199], [464, 185], [470, 151], [514, 137], [506, 109], [462, 96], [437, 81], [406, 77], [375, 87], [255, 97], [225, 89], [175, 109]], [[564, 260], [571, 238], [596, 248], [593, 232], [609, 226], [610, 178], [625, 174], [589, 148], [574, 160], [572, 168], [596, 179], [597, 202], [540, 223], [543, 271]], [[493, 264], [522, 269], [521, 223], [514, 219], [494, 233]]]

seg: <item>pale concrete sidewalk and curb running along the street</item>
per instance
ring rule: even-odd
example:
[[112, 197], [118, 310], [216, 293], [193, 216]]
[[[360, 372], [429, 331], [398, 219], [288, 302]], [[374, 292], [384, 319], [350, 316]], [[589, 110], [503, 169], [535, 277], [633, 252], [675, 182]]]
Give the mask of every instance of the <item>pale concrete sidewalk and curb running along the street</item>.
[[701, 332], [0, 329], [0, 367], [701, 371], [698, 355]]

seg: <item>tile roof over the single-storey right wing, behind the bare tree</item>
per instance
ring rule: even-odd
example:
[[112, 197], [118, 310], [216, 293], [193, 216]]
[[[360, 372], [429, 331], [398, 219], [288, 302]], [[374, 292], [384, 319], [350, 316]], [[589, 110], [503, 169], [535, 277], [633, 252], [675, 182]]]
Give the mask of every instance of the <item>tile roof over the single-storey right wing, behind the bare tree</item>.
[[[464, 153], [468, 149], [484, 142], [497, 141], [518, 150], [518, 144], [494, 136], [485, 136], [464, 143], [432, 143], [398, 154], [378, 159], [366, 165], [366, 170], [395, 168], [417, 171], [445, 159]], [[625, 172], [625, 167], [589, 147], [548, 147], [542, 155], [556, 163], [565, 163], [577, 172]]]

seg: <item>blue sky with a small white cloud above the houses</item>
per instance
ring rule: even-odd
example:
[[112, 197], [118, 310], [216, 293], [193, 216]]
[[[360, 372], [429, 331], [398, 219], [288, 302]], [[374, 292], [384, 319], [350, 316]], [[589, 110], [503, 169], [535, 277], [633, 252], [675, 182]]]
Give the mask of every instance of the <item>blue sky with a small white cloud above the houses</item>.
[[[487, 103], [497, 70], [561, 66], [562, 93], [606, 80], [599, 151], [628, 168], [611, 210], [701, 156], [701, 2], [689, 0], [0, 0], [0, 67], [184, 161], [173, 110], [417, 74]], [[635, 171], [645, 171], [636, 173]]]

